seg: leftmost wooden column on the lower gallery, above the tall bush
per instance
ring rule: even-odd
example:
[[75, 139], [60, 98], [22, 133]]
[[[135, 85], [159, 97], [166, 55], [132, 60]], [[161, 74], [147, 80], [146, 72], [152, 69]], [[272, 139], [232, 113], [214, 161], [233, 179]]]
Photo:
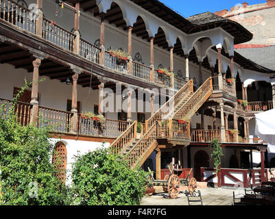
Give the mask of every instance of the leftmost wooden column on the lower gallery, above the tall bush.
[[38, 80], [39, 80], [39, 67], [41, 64], [41, 59], [36, 57], [36, 60], [32, 62], [34, 66], [34, 72], [32, 74], [32, 112], [30, 123], [34, 126], [37, 124], [37, 117], [38, 117]]

